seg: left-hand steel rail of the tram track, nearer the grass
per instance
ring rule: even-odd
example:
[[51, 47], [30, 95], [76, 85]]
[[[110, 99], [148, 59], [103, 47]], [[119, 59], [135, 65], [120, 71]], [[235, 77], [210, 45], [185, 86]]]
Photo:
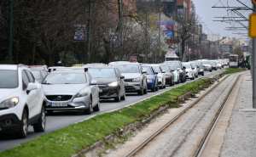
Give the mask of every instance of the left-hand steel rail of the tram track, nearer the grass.
[[167, 126], [171, 125], [172, 122], [176, 121], [177, 118], [179, 118], [181, 115], [183, 115], [184, 112], [186, 112], [189, 108], [191, 108], [192, 106], [194, 106], [195, 104], [197, 104], [202, 98], [204, 98], [205, 96], [207, 96], [208, 93], [212, 92], [212, 90], [215, 87], [218, 87], [218, 85], [221, 84], [221, 82], [223, 82], [225, 79], [227, 79], [229, 76], [224, 77], [224, 79], [222, 81], [219, 81], [217, 85], [215, 85], [214, 87], [211, 87], [206, 93], [204, 93], [203, 95], [201, 95], [201, 97], [196, 98], [195, 101], [191, 104], [189, 104], [189, 106], [187, 106], [185, 109], [183, 109], [180, 113], [178, 113], [175, 117], [172, 118], [172, 120], [166, 122], [165, 125], [161, 126], [157, 131], [155, 131], [154, 133], [152, 133], [149, 137], [147, 137], [142, 143], [139, 143], [134, 149], [132, 149], [129, 153], [125, 154], [124, 157], [131, 157], [132, 155], [136, 154], [140, 149], [142, 149], [147, 143], [149, 143], [151, 141], [151, 139], [153, 139], [154, 137], [158, 136], [160, 134], [160, 132], [162, 132], [164, 129], [166, 129]]

